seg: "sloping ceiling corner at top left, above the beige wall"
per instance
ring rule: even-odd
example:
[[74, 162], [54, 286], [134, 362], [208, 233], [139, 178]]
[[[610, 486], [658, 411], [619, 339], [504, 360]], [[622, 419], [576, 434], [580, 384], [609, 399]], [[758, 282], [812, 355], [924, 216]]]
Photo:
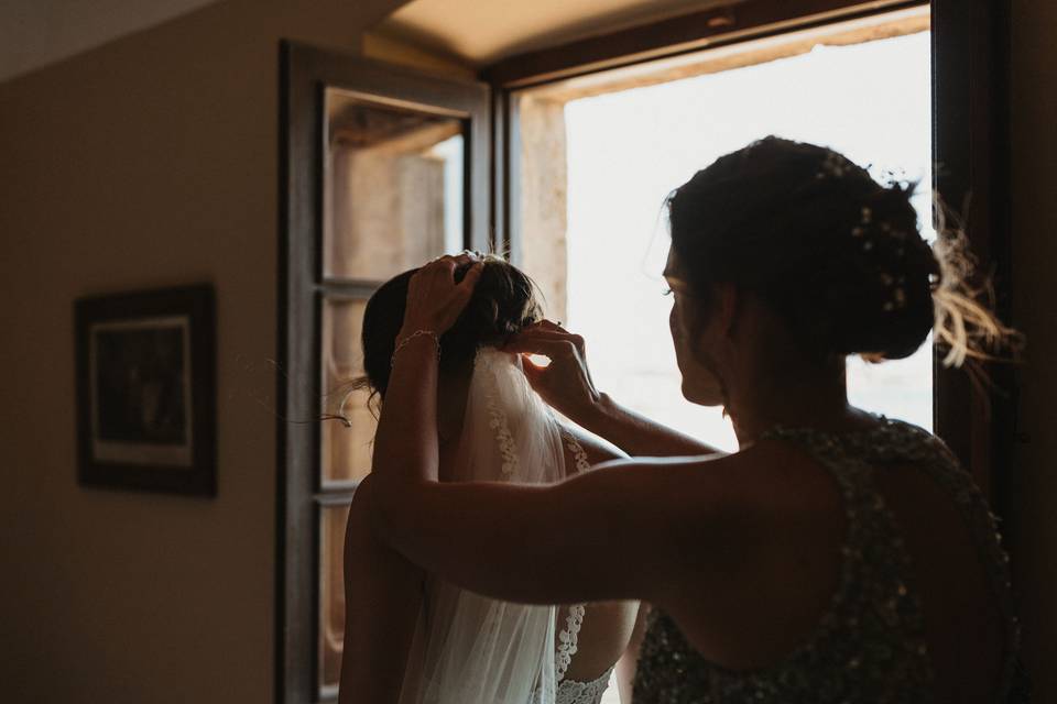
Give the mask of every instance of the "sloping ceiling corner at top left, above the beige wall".
[[0, 81], [217, 0], [2, 0]]

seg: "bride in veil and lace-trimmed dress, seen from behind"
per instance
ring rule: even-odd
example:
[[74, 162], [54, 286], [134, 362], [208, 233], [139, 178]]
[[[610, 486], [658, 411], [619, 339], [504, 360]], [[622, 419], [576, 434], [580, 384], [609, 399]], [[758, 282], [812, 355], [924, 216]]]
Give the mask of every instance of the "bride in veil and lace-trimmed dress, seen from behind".
[[[366, 377], [358, 385], [379, 398], [406, 343], [395, 340], [414, 273], [379, 288], [364, 311]], [[553, 483], [625, 457], [559, 421], [528, 386], [521, 356], [495, 349], [541, 318], [532, 282], [492, 256], [476, 277], [469, 310], [439, 340], [442, 481]], [[576, 559], [568, 556], [570, 564]], [[614, 670], [622, 698], [630, 697], [636, 602], [532, 606], [487, 598], [412, 566], [375, 542], [356, 513], [345, 569], [342, 703], [598, 704]], [[373, 620], [367, 614], [379, 612], [392, 615], [384, 632], [364, 631]], [[406, 668], [394, 652], [407, 653]], [[369, 682], [371, 691], [350, 692], [349, 682]]]

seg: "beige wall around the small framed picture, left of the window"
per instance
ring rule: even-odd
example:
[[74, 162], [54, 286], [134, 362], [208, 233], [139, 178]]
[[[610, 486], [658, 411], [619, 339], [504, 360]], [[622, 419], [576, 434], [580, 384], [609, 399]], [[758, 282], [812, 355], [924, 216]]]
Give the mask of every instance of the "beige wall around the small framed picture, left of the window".
[[[400, 0], [228, 0], [0, 84], [0, 700], [273, 696], [279, 41]], [[216, 498], [76, 483], [73, 301], [211, 282]]]

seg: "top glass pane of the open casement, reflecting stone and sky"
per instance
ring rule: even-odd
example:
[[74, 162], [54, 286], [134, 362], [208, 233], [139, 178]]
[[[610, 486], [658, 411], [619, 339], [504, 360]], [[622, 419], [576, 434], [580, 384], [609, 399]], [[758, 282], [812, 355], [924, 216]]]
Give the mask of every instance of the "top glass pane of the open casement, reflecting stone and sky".
[[326, 92], [324, 276], [384, 280], [464, 246], [464, 121]]

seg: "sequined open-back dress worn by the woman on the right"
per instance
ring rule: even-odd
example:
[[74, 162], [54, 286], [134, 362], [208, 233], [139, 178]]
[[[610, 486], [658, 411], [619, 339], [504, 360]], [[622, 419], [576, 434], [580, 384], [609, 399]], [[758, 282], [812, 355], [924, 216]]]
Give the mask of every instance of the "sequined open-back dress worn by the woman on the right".
[[833, 475], [843, 498], [848, 528], [839, 586], [814, 634], [774, 666], [734, 672], [699, 654], [675, 622], [654, 609], [635, 676], [635, 704], [935, 702], [911, 558], [873, 479], [885, 464], [896, 463], [927, 471], [971, 526], [1006, 627], [998, 702], [1028, 701], [1009, 559], [994, 516], [968, 473], [933, 436], [901, 421], [881, 421], [863, 431], [780, 427], [764, 436], [804, 448]]

